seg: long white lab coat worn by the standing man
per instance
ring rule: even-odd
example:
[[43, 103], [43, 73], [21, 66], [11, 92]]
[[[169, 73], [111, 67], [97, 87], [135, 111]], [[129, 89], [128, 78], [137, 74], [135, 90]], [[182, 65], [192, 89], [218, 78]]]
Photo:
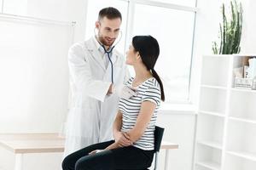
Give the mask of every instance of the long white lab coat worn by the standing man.
[[[106, 69], [93, 38], [75, 43], [68, 53], [72, 103], [67, 115], [64, 156], [90, 144], [113, 139], [119, 97], [106, 95], [111, 84], [111, 65]], [[124, 56], [113, 49], [112, 61], [113, 83], [125, 83], [130, 75]]]

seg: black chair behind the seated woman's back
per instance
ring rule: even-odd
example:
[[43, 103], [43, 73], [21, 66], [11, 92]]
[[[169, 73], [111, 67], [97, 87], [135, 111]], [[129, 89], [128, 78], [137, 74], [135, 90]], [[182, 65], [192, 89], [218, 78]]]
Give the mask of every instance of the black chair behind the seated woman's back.
[[161, 142], [163, 139], [165, 128], [155, 126], [154, 129], [154, 170], [158, 166], [158, 155], [161, 147]]

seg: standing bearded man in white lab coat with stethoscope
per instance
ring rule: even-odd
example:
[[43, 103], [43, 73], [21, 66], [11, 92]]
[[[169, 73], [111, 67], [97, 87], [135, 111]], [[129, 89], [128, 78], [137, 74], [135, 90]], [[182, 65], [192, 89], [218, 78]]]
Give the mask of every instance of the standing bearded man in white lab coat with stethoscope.
[[[117, 92], [124, 89], [120, 87], [130, 77], [124, 56], [113, 46], [121, 21], [118, 9], [102, 8], [96, 21], [96, 35], [69, 49], [72, 104], [67, 116], [64, 156], [90, 144], [113, 139]], [[131, 92], [126, 88], [126, 93]]]

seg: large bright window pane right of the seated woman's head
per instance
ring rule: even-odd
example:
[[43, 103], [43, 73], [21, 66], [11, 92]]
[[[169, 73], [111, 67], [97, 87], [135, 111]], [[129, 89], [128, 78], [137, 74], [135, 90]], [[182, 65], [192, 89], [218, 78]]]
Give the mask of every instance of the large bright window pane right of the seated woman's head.
[[[164, 20], [160, 20], [163, 18]], [[132, 35], [152, 35], [160, 44], [155, 70], [165, 85], [166, 101], [187, 100], [195, 14], [136, 4]]]

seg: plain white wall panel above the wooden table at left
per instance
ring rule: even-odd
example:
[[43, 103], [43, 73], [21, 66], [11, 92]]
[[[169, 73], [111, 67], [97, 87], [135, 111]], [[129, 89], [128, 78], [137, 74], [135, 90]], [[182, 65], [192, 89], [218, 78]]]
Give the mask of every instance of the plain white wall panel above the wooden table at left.
[[0, 133], [50, 132], [67, 111], [73, 28], [12, 19], [0, 25]]

